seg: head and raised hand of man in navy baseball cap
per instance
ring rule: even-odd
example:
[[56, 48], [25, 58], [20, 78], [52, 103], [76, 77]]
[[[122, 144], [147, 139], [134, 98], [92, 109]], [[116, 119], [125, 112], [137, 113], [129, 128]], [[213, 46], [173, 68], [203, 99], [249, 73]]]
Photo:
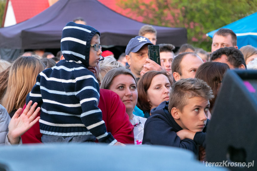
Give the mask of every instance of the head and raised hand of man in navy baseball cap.
[[143, 36], [136, 36], [129, 41], [125, 51], [130, 70], [138, 78], [151, 70], [165, 71], [163, 61], [161, 61], [160, 66], [149, 59], [148, 45], [153, 45], [149, 39]]

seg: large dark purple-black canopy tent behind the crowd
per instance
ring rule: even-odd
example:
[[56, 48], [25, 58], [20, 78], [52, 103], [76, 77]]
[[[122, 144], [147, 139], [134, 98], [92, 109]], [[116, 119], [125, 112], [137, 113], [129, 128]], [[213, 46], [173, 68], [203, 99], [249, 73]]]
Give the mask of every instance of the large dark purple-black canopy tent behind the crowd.
[[[26, 12], [26, 11], [24, 11]], [[103, 47], [127, 46], [145, 23], [127, 18], [96, 0], [59, 0], [40, 14], [14, 26], [0, 29], [1, 49], [60, 48], [62, 29], [74, 18], [82, 17], [101, 33]], [[187, 42], [185, 28], [154, 26], [157, 43], [179, 47]]]

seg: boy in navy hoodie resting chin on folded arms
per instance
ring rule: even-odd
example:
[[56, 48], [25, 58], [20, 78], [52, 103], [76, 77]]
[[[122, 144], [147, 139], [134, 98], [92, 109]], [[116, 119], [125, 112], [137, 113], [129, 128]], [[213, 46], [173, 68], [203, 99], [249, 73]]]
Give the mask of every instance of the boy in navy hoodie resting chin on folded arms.
[[198, 153], [205, 148], [211, 88], [200, 79], [180, 79], [172, 85], [169, 102], [152, 109], [144, 125], [143, 144], [186, 148]]

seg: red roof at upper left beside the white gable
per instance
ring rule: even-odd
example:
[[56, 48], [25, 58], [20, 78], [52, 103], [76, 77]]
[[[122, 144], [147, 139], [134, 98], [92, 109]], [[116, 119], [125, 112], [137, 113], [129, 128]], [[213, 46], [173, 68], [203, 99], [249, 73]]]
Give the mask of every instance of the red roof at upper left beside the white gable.
[[11, 0], [16, 22], [25, 21], [49, 7], [48, 0]]

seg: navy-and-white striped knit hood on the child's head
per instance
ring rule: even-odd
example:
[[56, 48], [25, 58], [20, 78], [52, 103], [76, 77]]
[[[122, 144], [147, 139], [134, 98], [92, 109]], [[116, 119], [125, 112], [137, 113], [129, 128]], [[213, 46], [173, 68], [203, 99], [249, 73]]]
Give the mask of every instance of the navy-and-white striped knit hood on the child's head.
[[100, 33], [91, 26], [69, 22], [63, 28], [61, 51], [65, 60], [81, 61], [89, 67], [90, 42], [95, 34]]

